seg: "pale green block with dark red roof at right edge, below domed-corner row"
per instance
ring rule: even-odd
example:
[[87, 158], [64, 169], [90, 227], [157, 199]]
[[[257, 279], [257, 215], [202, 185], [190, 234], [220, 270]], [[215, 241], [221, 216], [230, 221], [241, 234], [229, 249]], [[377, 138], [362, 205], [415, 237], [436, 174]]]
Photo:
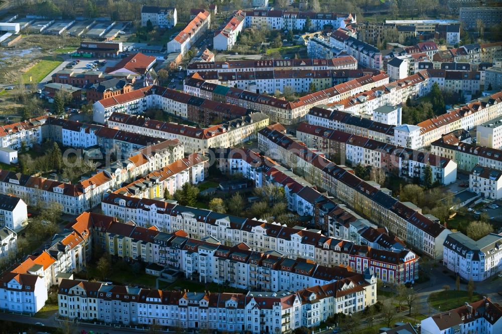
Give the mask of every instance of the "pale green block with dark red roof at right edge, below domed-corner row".
[[452, 131], [432, 142], [431, 152], [454, 160], [458, 169], [469, 173], [477, 165], [502, 170], [502, 150], [471, 144], [462, 131]]

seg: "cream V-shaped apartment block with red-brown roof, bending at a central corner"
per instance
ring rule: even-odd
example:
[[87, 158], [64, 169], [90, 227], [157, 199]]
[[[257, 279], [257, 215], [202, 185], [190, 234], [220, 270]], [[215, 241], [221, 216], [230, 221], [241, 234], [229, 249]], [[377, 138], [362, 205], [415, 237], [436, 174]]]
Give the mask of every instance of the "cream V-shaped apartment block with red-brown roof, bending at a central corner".
[[178, 139], [188, 153], [205, 151], [210, 147], [235, 146], [255, 138], [256, 132], [268, 124], [269, 117], [260, 112], [207, 128], [161, 122], [120, 112], [114, 112], [108, 119], [109, 127], [145, 135], [151, 133], [163, 139]]

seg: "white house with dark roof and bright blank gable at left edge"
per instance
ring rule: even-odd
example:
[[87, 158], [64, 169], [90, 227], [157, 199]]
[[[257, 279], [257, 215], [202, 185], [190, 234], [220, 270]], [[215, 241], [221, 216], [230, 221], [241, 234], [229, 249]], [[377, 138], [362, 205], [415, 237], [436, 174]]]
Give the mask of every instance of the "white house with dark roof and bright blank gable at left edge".
[[27, 205], [22, 198], [0, 194], [0, 226], [19, 231], [28, 223]]

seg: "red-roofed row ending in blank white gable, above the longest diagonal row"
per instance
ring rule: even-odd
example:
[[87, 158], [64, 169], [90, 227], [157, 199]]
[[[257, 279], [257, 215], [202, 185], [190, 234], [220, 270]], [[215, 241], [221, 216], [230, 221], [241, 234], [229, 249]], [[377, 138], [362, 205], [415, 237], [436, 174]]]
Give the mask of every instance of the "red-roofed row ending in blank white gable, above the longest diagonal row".
[[[456, 163], [434, 154], [354, 134], [347, 135], [343, 131], [307, 123], [300, 124], [297, 136], [307, 143], [308, 147], [313, 147], [320, 152], [325, 152], [325, 148], [339, 149], [340, 164], [361, 163], [363, 166], [382, 168], [386, 173], [396, 173], [401, 178], [418, 179], [421, 182], [424, 182], [425, 169], [429, 166], [432, 169], [433, 182], [451, 184], [457, 179]], [[326, 139], [336, 141], [336, 143], [326, 145]], [[328, 153], [331, 156], [335, 152], [328, 150]]]

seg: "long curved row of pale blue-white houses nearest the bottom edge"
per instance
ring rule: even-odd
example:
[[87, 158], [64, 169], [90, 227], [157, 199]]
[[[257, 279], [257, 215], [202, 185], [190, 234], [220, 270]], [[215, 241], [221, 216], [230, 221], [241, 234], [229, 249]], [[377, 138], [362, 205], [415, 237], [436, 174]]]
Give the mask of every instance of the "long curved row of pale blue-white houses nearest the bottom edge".
[[59, 286], [58, 307], [59, 316], [79, 321], [281, 333], [317, 326], [339, 312], [364, 309], [372, 304], [366, 291], [374, 289], [375, 283], [368, 272], [296, 292], [241, 294], [151, 290], [65, 279]]

